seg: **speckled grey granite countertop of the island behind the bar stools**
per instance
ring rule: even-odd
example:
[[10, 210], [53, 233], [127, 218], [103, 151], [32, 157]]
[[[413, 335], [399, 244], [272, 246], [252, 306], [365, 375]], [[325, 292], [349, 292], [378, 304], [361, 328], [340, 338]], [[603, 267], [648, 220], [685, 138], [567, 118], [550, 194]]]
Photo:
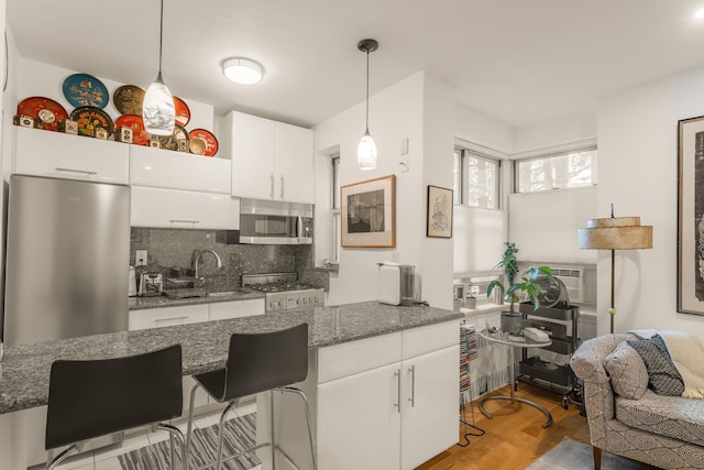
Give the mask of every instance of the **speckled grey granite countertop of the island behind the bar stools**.
[[191, 375], [224, 367], [233, 332], [266, 332], [307, 323], [309, 346], [322, 348], [461, 318], [462, 314], [422, 305], [396, 307], [365, 302], [6, 346], [0, 362], [0, 414], [45, 405], [51, 365], [56, 359], [108, 359], [180, 343], [184, 375]]

